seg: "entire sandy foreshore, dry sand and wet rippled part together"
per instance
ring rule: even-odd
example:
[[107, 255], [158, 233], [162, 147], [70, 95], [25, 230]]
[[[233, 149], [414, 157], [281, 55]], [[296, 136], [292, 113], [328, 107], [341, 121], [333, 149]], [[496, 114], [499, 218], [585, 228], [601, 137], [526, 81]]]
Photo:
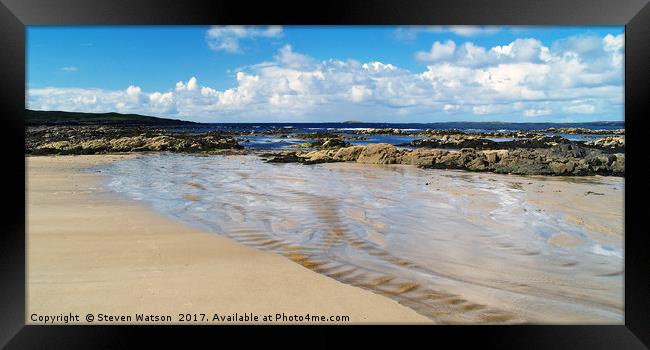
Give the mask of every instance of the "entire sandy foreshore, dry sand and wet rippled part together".
[[620, 177], [254, 154], [26, 159], [31, 323], [623, 319]]

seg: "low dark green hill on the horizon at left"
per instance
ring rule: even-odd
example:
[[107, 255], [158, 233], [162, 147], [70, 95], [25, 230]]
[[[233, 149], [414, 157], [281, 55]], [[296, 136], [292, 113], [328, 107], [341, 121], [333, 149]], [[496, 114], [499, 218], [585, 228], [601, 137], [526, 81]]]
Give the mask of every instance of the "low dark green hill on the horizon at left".
[[26, 125], [190, 125], [199, 124], [178, 119], [150, 117], [139, 114], [81, 113], [25, 110]]

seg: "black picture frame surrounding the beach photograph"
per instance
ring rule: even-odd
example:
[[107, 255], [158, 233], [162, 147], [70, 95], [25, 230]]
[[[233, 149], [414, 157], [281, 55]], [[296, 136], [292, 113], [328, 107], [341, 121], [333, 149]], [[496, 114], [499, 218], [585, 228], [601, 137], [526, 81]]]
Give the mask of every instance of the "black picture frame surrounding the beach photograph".
[[[341, 344], [331, 330], [358, 340], [382, 341], [388, 330], [335, 327], [142, 327], [25, 325], [25, 26], [134, 24], [473, 24], [625, 25], [625, 324], [621, 326], [418, 326], [431, 344], [454, 347], [549, 349], [643, 349], [650, 344], [650, 263], [645, 219], [648, 181], [643, 165], [650, 96], [650, 5], [648, 0], [0, 0], [0, 108], [5, 182], [4, 230], [0, 234], [0, 345], [7, 348], [122, 348], [136, 336], [148, 345], [171, 344], [200, 335], [251, 340], [266, 332], [269, 343], [286, 344], [289, 332], [311, 337], [297, 346]], [[21, 186], [21, 184], [23, 186]], [[403, 336], [403, 335], [400, 335]], [[395, 339], [393, 339], [395, 340]], [[425, 343], [426, 344], [426, 343]], [[645, 345], [644, 345], [645, 344]], [[219, 344], [225, 345], [219, 340]], [[347, 344], [346, 344], [347, 345]], [[444, 345], [443, 345], [444, 346]], [[445, 348], [447, 346], [444, 346]]]

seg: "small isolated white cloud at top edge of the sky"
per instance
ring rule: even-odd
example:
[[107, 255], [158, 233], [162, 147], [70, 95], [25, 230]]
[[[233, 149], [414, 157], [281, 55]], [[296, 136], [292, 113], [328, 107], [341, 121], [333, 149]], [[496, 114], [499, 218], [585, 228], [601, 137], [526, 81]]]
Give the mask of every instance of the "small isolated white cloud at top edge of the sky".
[[242, 40], [279, 38], [282, 34], [280, 26], [214, 26], [207, 31], [205, 40], [212, 50], [241, 53], [240, 42]]

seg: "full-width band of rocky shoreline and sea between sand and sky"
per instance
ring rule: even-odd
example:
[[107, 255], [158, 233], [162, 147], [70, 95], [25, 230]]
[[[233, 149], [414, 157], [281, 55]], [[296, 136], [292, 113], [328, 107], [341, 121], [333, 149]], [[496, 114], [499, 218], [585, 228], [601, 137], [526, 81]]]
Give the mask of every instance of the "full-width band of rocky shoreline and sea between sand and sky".
[[[27, 128], [25, 153], [168, 151], [232, 155], [256, 150], [266, 151], [260, 155], [272, 163], [358, 162], [516, 175], [625, 175], [623, 129], [604, 131], [611, 134], [603, 134], [603, 130], [547, 129], [568, 133], [551, 135], [522, 130], [252, 129], [34, 126]], [[603, 137], [594, 139], [596, 134]]]

